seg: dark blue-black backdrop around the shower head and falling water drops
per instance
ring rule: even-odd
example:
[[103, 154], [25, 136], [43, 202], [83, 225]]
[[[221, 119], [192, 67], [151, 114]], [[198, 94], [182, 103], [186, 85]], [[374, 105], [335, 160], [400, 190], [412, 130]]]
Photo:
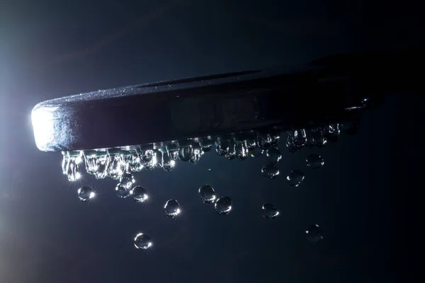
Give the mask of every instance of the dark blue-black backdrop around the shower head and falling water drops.
[[[263, 158], [214, 152], [139, 173], [152, 195], [142, 205], [116, 197], [112, 180], [69, 183], [62, 156], [38, 151], [30, 125], [36, 103], [69, 94], [416, 47], [421, 9], [407, 2], [0, 1], [0, 282], [409, 282], [419, 96], [392, 94], [356, 136], [323, 149], [290, 154], [281, 142], [276, 180], [261, 176]], [[306, 168], [310, 152], [324, 168]], [[285, 181], [295, 168], [306, 175], [298, 188]], [[228, 216], [200, 202], [205, 183], [232, 197]], [[96, 201], [77, 200], [83, 184]], [[164, 215], [170, 198], [179, 219]], [[263, 219], [263, 202], [281, 216]], [[313, 223], [318, 246], [303, 235]], [[147, 253], [132, 246], [139, 231], [154, 238]]]

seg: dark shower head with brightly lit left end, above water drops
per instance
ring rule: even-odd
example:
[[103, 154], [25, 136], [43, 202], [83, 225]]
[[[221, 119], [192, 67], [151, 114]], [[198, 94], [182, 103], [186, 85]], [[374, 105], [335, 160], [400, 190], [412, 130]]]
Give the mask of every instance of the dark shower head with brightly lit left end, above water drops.
[[365, 97], [369, 105], [379, 103], [391, 85], [421, 88], [405, 75], [409, 62], [402, 56], [329, 57], [295, 71], [220, 74], [47, 100], [33, 109], [35, 141], [42, 151], [69, 151], [310, 127], [352, 115]]

